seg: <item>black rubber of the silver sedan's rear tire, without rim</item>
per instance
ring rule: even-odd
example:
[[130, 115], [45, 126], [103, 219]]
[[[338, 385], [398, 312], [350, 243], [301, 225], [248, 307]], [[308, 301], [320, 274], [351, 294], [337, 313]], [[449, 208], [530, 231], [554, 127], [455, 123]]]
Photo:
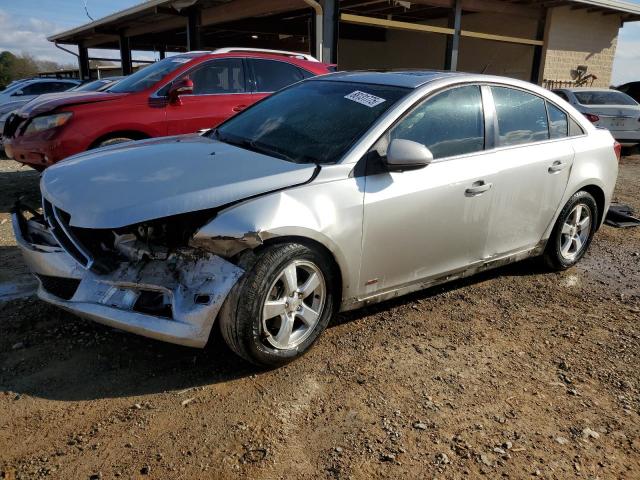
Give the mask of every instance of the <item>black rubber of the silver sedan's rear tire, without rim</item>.
[[[575, 252], [575, 256], [567, 258], [567, 256], [563, 255], [561, 251], [564, 237], [562, 228], [578, 205], [588, 209], [588, 214], [591, 217], [591, 223], [588, 227], [588, 237], [583, 241], [580, 250]], [[585, 191], [575, 193], [560, 212], [560, 215], [556, 220], [556, 224], [553, 227], [553, 231], [551, 232], [551, 236], [549, 237], [549, 241], [547, 242], [547, 246], [543, 254], [545, 264], [552, 270], [560, 271], [566, 270], [578, 263], [589, 249], [589, 245], [591, 245], [593, 235], [598, 229], [598, 218], [598, 204], [593, 196]], [[566, 239], [566, 237], [564, 238]]]

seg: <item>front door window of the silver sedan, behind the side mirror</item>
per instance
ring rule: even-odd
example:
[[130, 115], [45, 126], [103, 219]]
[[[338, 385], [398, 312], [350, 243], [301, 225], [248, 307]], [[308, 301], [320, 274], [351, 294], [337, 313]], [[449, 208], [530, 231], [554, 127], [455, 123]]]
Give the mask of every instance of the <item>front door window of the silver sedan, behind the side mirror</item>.
[[477, 85], [452, 88], [425, 100], [390, 132], [425, 145], [434, 159], [484, 149], [482, 95]]

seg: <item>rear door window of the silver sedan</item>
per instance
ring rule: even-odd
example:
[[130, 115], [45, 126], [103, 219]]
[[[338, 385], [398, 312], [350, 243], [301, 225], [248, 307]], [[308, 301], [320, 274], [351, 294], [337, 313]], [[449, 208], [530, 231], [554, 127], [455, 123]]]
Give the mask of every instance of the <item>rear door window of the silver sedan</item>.
[[508, 87], [491, 87], [498, 115], [498, 146], [507, 147], [549, 139], [545, 101]]

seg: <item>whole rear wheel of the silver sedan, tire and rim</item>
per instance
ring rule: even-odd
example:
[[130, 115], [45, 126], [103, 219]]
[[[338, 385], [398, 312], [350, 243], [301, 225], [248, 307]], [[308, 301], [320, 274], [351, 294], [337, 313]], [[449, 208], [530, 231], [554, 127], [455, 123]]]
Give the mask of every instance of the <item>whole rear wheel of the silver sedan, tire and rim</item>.
[[585, 191], [574, 194], [556, 221], [544, 252], [553, 270], [566, 270], [584, 256], [598, 228], [598, 204]]

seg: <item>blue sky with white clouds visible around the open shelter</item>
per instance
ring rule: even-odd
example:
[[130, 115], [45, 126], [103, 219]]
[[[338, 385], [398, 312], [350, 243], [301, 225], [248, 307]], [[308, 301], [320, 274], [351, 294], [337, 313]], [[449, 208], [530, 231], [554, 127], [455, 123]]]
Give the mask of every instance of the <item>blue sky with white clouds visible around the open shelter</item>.
[[[89, 21], [85, 13], [97, 19], [140, 0], [0, 0], [0, 51], [28, 52], [36, 58], [64, 64], [76, 64], [76, 58], [47, 41], [46, 37]], [[635, 0], [633, 3], [640, 3]], [[117, 58], [118, 52], [92, 50], [90, 55]], [[149, 52], [134, 52], [134, 58], [153, 58]], [[613, 64], [613, 85], [640, 80], [640, 22], [627, 23], [620, 30]]]

